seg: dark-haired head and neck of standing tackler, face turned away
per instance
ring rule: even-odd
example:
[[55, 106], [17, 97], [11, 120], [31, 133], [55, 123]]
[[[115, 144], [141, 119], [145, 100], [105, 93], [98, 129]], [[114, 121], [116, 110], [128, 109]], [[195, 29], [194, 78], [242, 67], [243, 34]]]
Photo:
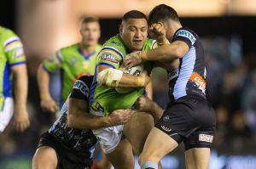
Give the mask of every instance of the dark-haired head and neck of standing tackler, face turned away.
[[160, 4], [154, 7], [148, 16], [148, 25], [158, 22], [164, 24], [167, 38], [172, 38], [176, 31], [176, 25], [180, 25], [176, 10], [166, 4]]

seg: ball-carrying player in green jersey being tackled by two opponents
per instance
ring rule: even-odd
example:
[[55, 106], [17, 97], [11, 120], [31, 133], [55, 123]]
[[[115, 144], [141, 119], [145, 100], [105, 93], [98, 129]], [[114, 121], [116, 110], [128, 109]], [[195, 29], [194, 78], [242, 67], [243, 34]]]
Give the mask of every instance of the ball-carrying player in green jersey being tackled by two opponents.
[[[152, 69], [150, 62], [143, 63], [147, 75], [132, 76], [119, 68], [126, 54], [156, 47], [156, 42], [147, 36], [148, 23], [145, 14], [137, 10], [127, 12], [119, 27], [119, 34], [105, 42], [97, 56], [96, 74], [90, 88], [91, 114], [106, 116], [113, 110], [129, 109], [143, 95]], [[129, 93], [118, 93], [116, 88], [122, 87], [134, 88]], [[139, 112], [133, 114], [125, 125], [103, 127], [93, 132], [114, 168], [133, 169], [132, 148], [140, 155], [153, 127], [153, 115]]]

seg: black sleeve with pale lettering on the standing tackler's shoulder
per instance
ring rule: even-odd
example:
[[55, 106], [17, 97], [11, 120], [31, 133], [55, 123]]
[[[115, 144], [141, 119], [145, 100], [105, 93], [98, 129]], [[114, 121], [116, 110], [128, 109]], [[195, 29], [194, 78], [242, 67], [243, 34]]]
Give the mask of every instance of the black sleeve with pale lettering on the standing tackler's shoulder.
[[197, 41], [198, 36], [196, 33], [189, 28], [180, 28], [178, 29], [173, 37], [173, 41], [183, 41], [188, 44], [189, 48], [195, 44]]

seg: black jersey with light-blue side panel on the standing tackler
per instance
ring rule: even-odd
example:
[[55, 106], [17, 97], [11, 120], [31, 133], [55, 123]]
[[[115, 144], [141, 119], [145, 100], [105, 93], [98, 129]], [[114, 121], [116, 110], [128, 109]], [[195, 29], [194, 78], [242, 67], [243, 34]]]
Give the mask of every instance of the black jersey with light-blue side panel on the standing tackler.
[[183, 41], [189, 46], [189, 52], [180, 59], [177, 70], [168, 72], [169, 95], [172, 101], [187, 95], [196, 95], [206, 99], [206, 63], [199, 37], [189, 28], [178, 29], [172, 42]]

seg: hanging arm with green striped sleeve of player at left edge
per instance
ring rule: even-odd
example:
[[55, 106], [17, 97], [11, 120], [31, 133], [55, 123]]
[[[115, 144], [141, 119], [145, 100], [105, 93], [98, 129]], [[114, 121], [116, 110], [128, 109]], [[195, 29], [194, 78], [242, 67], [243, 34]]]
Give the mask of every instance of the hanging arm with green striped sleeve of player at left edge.
[[26, 110], [27, 98], [27, 72], [26, 56], [23, 51], [23, 45], [20, 38], [13, 31], [6, 30], [3, 37], [6, 36], [4, 44], [4, 53], [8, 59], [10, 70], [14, 76], [15, 107], [14, 124], [15, 128], [23, 132], [30, 125]]

